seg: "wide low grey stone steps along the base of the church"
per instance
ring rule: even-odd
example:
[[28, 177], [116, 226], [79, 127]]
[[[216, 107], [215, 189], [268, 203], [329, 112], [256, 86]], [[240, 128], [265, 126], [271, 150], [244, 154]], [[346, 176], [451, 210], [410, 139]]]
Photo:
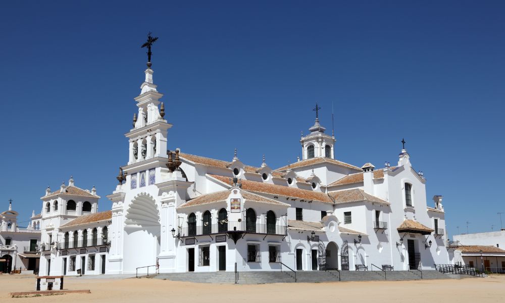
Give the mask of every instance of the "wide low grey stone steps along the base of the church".
[[[208, 273], [164, 273], [154, 276], [155, 279], [186, 281], [195, 283], [235, 283], [234, 272], [208, 272]], [[424, 270], [423, 279], [448, 279], [435, 270]], [[338, 282], [338, 281], [400, 281], [421, 280], [419, 271], [388, 271], [386, 279], [382, 271], [297, 271], [296, 281], [299, 283]], [[293, 283], [294, 273], [289, 271], [247, 271], [239, 272], [239, 284], [262, 283]]]

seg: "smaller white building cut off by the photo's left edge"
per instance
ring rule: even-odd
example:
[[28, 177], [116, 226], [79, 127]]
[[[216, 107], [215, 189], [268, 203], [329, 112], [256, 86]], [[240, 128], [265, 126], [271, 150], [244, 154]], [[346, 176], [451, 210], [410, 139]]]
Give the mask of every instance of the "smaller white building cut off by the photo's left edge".
[[39, 268], [40, 229], [34, 221], [19, 226], [18, 215], [12, 210], [12, 200], [9, 210], [0, 213], [0, 273], [33, 274]]

